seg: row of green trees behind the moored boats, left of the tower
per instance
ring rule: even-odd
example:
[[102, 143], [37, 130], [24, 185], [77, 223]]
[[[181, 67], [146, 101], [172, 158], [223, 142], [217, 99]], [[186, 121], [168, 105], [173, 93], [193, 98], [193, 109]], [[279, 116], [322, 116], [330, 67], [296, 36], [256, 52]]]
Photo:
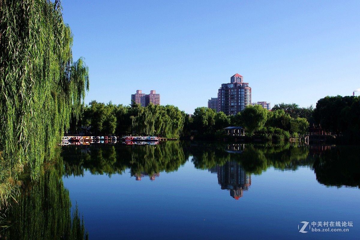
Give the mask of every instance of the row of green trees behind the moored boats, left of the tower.
[[91, 101], [84, 108], [80, 124], [92, 134], [161, 135], [179, 137], [183, 132], [186, 114], [172, 105], [141, 107], [114, 105]]

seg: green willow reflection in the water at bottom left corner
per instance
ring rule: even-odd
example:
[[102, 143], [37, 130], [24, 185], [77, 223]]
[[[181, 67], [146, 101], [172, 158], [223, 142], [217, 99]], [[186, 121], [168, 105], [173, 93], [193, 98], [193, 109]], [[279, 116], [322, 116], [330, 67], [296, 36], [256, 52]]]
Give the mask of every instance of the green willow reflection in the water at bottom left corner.
[[58, 155], [54, 162], [44, 164], [42, 170], [36, 181], [30, 180], [29, 173], [21, 176], [18, 203], [13, 201], [7, 209], [8, 227], [0, 232], [0, 238], [88, 239], [77, 204], [71, 214], [69, 191], [62, 181], [62, 158]]

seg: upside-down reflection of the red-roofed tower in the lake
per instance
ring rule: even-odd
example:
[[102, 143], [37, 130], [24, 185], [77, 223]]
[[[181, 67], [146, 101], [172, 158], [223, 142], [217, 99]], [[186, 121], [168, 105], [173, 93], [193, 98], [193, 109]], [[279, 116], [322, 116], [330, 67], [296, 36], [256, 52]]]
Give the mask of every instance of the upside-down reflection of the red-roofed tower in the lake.
[[238, 200], [251, 185], [251, 175], [246, 173], [237, 162], [226, 162], [223, 166], [217, 165], [209, 169], [217, 173], [217, 181], [221, 189], [230, 190], [230, 196]]

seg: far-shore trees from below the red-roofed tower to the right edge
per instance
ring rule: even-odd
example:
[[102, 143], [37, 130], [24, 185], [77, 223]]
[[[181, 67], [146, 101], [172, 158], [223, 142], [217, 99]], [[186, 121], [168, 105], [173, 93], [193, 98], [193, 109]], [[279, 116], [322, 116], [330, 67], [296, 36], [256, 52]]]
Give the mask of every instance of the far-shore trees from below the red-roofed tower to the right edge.
[[358, 96], [327, 96], [316, 108], [300, 108], [297, 104], [276, 104], [271, 111], [260, 105], [248, 106], [235, 116], [202, 107], [193, 118], [185, 121], [184, 129], [211, 135], [228, 126], [243, 126], [248, 136], [263, 139], [287, 139], [291, 134], [305, 134], [309, 126], [321, 126], [342, 142], [360, 142], [360, 98]]

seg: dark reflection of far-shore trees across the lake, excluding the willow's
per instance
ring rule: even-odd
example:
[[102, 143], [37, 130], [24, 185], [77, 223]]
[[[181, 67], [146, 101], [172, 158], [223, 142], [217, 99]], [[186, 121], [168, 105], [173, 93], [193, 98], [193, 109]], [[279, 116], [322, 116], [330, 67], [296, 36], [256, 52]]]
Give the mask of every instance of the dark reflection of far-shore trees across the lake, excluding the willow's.
[[[156, 146], [90, 145], [63, 148], [65, 176], [122, 174], [130, 169], [131, 176], [154, 177], [159, 173], [177, 171], [190, 159], [195, 168], [214, 169], [234, 162], [246, 175], [260, 175], [268, 168], [296, 171], [308, 167], [315, 171], [321, 184], [359, 186], [355, 147], [308, 146], [279, 142], [261, 144], [167, 141]], [[352, 160], [353, 159], [353, 160]], [[337, 169], [342, 169], [341, 173]], [[244, 190], [244, 188], [242, 188]]]

